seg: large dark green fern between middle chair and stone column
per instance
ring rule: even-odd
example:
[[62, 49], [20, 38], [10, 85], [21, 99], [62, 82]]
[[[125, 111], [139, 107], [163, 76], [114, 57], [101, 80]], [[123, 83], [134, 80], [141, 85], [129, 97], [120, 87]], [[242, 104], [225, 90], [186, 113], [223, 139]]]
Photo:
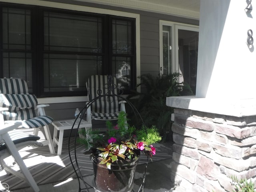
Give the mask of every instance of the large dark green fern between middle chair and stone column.
[[[128, 99], [140, 112], [144, 124], [148, 127], [156, 125], [163, 140], [170, 138], [171, 114], [173, 109], [166, 106], [166, 97], [192, 95], [192, 90], [187, 84], [178, 82], [181, 75], [176, 72], [170, 75], [153, 76], [143, 74], [139, 76], [141, 92], [133, 90]], [[136, 98], [136, 99], [133, 99]], [[136, 116], [129, 113], [130, 119], [135, 122]]]

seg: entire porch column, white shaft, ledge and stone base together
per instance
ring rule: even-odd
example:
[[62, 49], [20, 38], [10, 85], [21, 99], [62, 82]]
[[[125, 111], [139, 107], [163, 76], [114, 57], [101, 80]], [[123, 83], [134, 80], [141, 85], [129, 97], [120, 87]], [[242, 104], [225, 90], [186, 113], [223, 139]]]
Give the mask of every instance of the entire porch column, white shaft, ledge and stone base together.
[[232, 192], [230, 176], [256, 180], [255, 3], [200, 2], [196, 96], [166, 98], [176, 192]]

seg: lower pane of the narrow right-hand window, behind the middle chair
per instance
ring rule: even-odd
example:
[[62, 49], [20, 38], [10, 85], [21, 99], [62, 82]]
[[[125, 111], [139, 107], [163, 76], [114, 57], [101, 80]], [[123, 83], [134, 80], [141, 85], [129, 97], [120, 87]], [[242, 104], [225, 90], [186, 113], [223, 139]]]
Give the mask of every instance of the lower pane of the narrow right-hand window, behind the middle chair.
[[112, 57], [112, 75], [117, 78], [119, 89], [130, 90], [131, 58]]

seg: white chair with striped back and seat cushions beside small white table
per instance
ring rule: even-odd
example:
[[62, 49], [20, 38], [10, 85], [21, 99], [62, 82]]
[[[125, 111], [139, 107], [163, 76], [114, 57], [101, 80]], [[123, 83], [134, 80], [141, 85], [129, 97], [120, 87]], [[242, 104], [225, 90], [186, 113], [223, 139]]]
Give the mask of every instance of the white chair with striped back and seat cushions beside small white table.
[[8, 110], [0, 114], [0, 126], [9, 123], [21, 122], [19, 128], [33, 128], [34, 135], [38, 135], [40, 127], [44, 128], [46, 140], [50, 152], [55, 154], [49, 124], [53, 119], [46, 116], [44, 107], [48, 104], [37, 105], [36, 96], [28, 93], [28, 84], [25, 80], [15, 78], [0, 79], [0, 107]]

